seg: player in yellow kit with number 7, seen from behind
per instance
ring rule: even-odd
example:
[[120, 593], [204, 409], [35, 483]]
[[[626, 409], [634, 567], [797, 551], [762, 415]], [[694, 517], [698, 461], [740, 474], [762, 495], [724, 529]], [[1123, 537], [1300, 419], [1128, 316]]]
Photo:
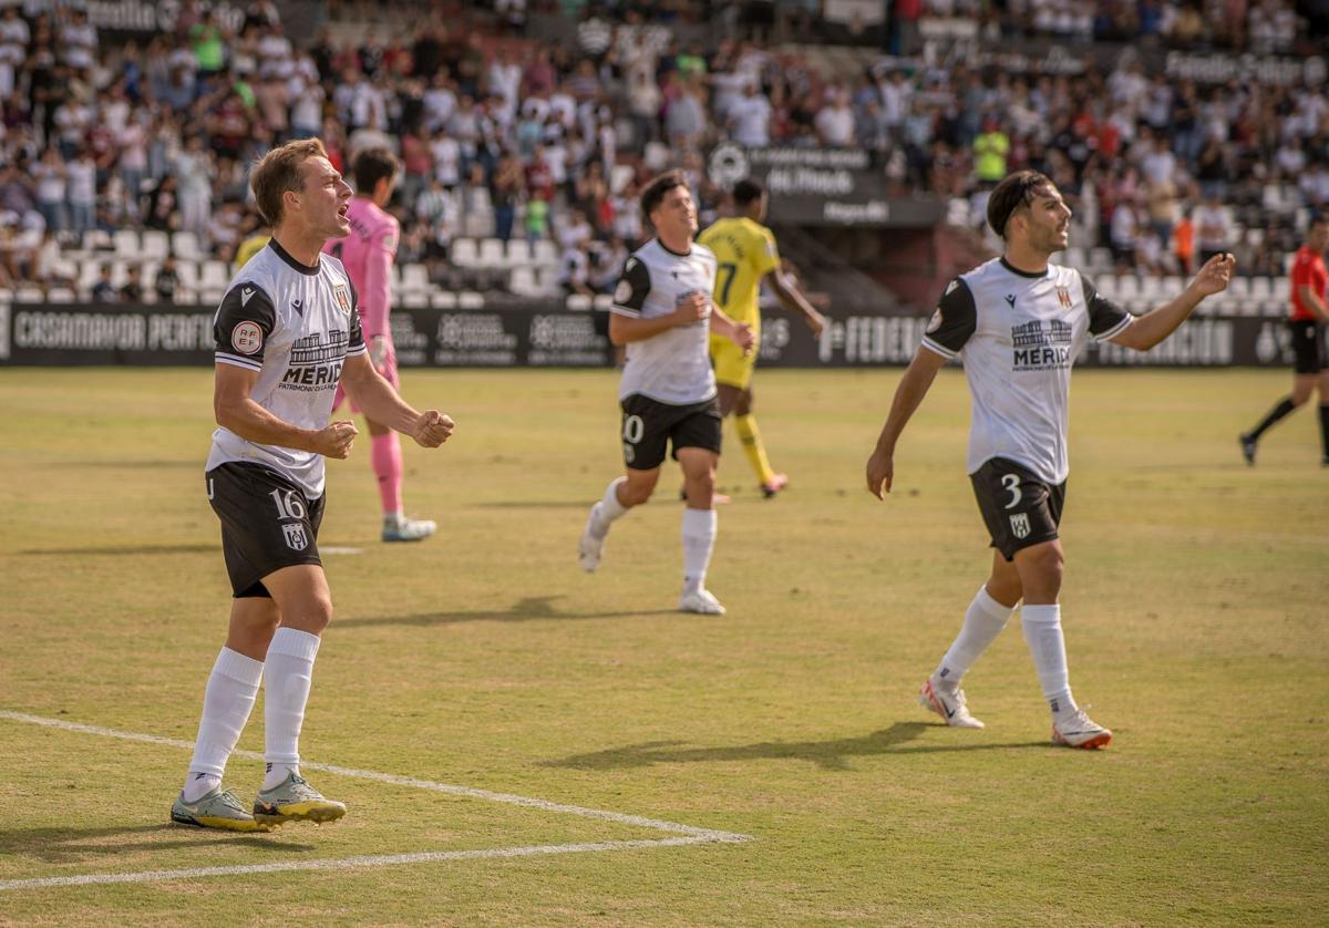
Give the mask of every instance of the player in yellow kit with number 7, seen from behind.
[[[734, 185], [735, 215], [716, 221], [698, 235], [696, 241], [714, 251], [718, 262], [714, 302], [735, 322], [748, 323], [760, 344], [762, 311], [758, 307], [758, 294], [764, 279], [780, 303], [791, 312], [801, 314], [812, 334], [820, 335], [825, 319], [780, 273], [775, 235], [762, 225], [767, 205], [766, 187], [759, 181], [739, 181]], [[756, 351], [743, 355], [732, 342], [711, 336], [711, 363], [719, 384], [720, 415], [734, 412], [743, 453], [758, 475], [762, 493], [769, 499], [784, 489], [789, 479], [771, 468], [752, 415], [751, 383], [756, 355]]]

